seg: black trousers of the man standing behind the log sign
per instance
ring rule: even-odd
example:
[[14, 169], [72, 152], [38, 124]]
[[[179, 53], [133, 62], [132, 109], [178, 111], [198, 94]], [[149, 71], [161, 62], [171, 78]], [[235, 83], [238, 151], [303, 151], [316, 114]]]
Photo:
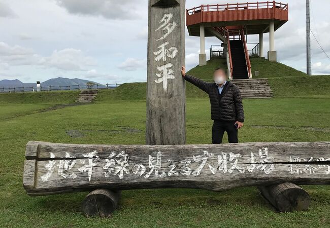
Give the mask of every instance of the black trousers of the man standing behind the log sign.
[[227, 132], [229, 143], [238, 142], [238, 130], [234, 125], [235, 122], [215, 120], [212, 126], [212, 143], [221, 143], [224, 131]]

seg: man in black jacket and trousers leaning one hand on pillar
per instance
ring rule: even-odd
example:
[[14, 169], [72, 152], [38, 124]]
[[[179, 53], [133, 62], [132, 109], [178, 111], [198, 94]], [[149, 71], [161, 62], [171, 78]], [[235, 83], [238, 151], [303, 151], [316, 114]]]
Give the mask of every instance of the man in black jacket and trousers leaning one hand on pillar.
[[221, 143], [224, 131], [228, 142], [238, 142], [238, 129], [243, 127], [244, 110], [240, 89], [230, 81], [226, 81], [223, 69], [213, 72], [214, 83], [205, 82], [186, 74], [185, 66], [181, 67], [182, 77], [209, 94], [211, 103], [212, 143]]

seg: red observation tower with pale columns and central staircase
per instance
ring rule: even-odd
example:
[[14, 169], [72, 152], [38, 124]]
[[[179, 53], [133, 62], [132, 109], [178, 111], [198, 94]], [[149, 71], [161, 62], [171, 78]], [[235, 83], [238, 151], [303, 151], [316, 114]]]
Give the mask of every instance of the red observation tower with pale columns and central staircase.
[[215, 36], [223, 43], [228, 77], [251, 79], [247, 35], [259, 34], [255, 54], [263, 57], [263, 33], [269, 32], [268, 60], [277, 61], [275, 31], [288, 21], [288, 10], [288, 4], [275, 1], [201, 5], [187, 9], [189, 35], [201, 37], [200, 66], [206, 65], [205, 37]]

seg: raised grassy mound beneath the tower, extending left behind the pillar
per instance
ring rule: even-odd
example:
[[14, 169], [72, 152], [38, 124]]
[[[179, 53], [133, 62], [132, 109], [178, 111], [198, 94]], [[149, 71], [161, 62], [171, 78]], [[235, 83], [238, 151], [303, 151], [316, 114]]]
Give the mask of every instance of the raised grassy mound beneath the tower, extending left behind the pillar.
[[[263, 58], [251, 58], [252, 71], [258, 70], [259, 76], [268, 78], [275, 97], [330, 97], [330, 76], [309, 76], [290, 66], [278, 62], [269, 62]], [[226, 67], [224, 59], [213, 59], [205, 66], [196, 66], [187, 73], [211, 82], [213, 70]], [[207, 94], [190, 83], [186, 83], [187, 98], [207, 98]], [[125, 83], [115, 90], [100, 91], [97, 101], [143, 100], [146, 98], [146, 83]]]

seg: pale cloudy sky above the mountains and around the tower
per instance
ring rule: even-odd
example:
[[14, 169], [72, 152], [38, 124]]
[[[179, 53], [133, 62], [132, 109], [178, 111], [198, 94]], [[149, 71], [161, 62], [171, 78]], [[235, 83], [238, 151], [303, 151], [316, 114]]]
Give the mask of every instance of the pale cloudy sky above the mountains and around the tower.
[[[186, 8], [225, 3], [237, 0], [187, 0]], [[289, 4], [289, 21], [275, 32], [277, 59], [306, 72], [306, 1], [283, 3]], [[329, 0], [311, 0], [311, 30], [330, 56], [329, 8]], [[147, 0], [0, 0], [0, 80], [145, 82], [147, 27]], [[268, 33], [263, 39], [267, 56]], [[330, 74], [330, 59], [312, 34], [311, 41], [312, 73]], [[258, 35], [248, 35], [247, 42], [257, 43]], [[210, 46], [220, 44], [206, 37], [208, 57]], [[199, 37], [186, 29], [187, 69], [198, 65], [199, 52]]]

